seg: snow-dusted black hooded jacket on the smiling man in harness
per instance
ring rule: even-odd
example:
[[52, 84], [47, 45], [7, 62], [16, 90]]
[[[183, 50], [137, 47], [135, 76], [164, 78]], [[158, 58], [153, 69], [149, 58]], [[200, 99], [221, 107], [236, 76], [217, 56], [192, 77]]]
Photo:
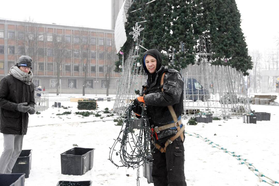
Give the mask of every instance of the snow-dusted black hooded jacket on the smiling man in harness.
[[[145, 56], [149, 54], [156, 58], [156, 72], [150, 74], [145, 66]], [[145, 94], [146, 113], [156, 124], [167, 124], [173, 120], [167, 106], [172, 105], [176, 116], [179, 117], [183, 110], [183, 81], [181, 74], [174, 69], [165, 69], [161, 65], [161, 54], [156, 49], [151, 49], [143, 55], [143, 68], [147, 73], [147, 81], [143, 84], [142, 95]], [[161, 77], [165, 74], [163, 92], [161, 91]], [[147, 89], [144, 91], [144, 87]]]

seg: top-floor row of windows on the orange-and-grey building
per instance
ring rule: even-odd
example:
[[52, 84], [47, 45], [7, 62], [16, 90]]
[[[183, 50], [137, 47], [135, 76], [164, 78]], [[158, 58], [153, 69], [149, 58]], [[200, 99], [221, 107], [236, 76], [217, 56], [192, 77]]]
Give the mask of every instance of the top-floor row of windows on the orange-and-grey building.
[[[18, 32], [18, 39], [20, 40], [23, 40], [25, 37], [24, 37], [24, 32]], [[44, 41], [45, 39], [49, 42], [52, 42], [54, 40], [56, 40], [56, 42], [62, 42], [62, 38], [63, 36], [62, 35], [55, 35], [56, 38], [53, 37], [53, 34], [47, 34], [46, 35], [46, 38], [44, 37], [45, 34], [44, 33], [38, 33], [37, 35], [37, 39], [36, 40], [39, 40], [39, 41]], [[34, 33], [28, 33], [27, 35], [28, 39], [30, 40], [34, 40], [35, 39], [35, 34]], [[90, 43], [89, 43], [89, 40], [88, 40], [88, 37], [87, 36], [71, 36], [71, 35], [65, 35], [65, 42], [66, 43], [71, 43], [72, 41], [72, 37], [73, 37], [73, 41], [74, 43], [78, 44], [80, 43], [80, 40], [83, 44], [91, 44], [91, 45], [96, 45], [96, 37], [90, 37]], [[0, 30], [0, 38], [4, 38], [4, 31], [1, 31]], [[8, 31], [8, 38], [9, 39], [14, 39], [15, 38], [15, 31]], [[98, 38], [98, 45], [104, 45], [105, 41], [105, 38], [101, 38], [99, 37]], [[107, 46], [111, 46], [112, 45], [112, 38], [107, 38], [106, 39], [106, 45]]]

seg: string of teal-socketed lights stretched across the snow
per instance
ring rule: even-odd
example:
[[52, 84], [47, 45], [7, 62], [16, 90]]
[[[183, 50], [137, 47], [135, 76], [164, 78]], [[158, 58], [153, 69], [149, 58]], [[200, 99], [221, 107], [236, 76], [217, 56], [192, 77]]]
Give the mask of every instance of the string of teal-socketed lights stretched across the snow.
[[[252, 165], [252, 163], [247, 162], [247, 159], [241, 158], [241, 155], [237, 155], [235, 152], [231, 152], [228, 151], [227, 149], [221, 147], [220, 145], [214, 143], [213, 141], [209, 140], [207, 137], [203, 138], [201, 135], [196, 134], [196, 133], [192, 133], [190, 134], [189, 132], [185, 131], [185, 135], [188, 134], [189, 136], [194, 136], [197, 137], [205, 142], [208, 142], [209, 145], [212, 146], [212, 148], [218, 148], [220, 150], [223, 150], [224, 153], [228, 153], [231, 156], [233, 156], [236, 160], [240, 161], [239, 165], [246, 165], [248, 167], [249, 170], [251, 170], [258, 178], [259, 178], [259, 182], [265, 182], [268, 183], [269, 185], [273, 185], [273, 183], [279, 183], [275, 180], [272, 180], [271, 178], [267, 177], [266, 175], [264, 175], [263, 173], [261, 173], [258, 169], [256, 169], [256, 167], [254, 167]], [[261, 177], [265, 177], [266, 180], [263, 180]], [[275, 185], [273, 185], [275, 186]]]

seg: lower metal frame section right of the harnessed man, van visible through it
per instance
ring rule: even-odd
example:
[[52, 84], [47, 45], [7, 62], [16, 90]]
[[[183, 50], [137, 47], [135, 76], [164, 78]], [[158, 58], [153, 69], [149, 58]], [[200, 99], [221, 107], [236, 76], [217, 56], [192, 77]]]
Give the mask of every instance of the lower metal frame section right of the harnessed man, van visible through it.
[[212, 113], [215, 117], [250, 112], [243, 74], [229, 66], [208, 62], [182, 70], [184, 114]]

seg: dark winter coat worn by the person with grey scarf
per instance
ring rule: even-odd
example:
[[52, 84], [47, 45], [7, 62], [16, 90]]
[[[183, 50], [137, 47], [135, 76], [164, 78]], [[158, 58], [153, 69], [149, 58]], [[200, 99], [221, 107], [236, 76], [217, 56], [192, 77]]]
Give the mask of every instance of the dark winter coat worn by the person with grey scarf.
[[27, 102], [34, 108], [34, 84], [27, 85], [9, 75], [0, 81], [0, 132], [25, 135], [28, 127], [28, 113], [15, 110], [18, 103]]

